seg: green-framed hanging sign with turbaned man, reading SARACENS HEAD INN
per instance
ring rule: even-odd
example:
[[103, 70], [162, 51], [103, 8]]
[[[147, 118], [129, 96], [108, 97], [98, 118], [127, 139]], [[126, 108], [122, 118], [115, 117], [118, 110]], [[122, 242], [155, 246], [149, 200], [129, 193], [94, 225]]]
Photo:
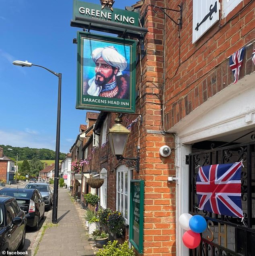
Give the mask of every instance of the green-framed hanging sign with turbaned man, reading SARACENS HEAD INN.
[[78, 31], [76, 108], [135, 112], [136, 41]]

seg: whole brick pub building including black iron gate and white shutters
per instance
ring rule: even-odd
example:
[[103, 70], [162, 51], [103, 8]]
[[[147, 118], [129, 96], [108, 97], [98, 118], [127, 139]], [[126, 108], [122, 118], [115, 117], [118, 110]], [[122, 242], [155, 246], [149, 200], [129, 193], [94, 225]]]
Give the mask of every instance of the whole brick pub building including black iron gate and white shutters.
[[[136, 113], [116, 120], [101, 111], [72, 146], [72, 160], [84, 161], [82, 204], [93, 192], [121, 212], [137, 255], [255, 255], [255, 2], [143, 0], [128, 9], [148, 29], [137, 40]], [[113, 154], [115, 121], [130, 131], [119, 155], [132, 163]], [[241, 160], [243, 218], [201, 210], [198, 167]], [[87, 183], [93, 176], [104, 179], [98, 189]], [[183, 213], [207, 221], [198, 247], [183, 242]]]

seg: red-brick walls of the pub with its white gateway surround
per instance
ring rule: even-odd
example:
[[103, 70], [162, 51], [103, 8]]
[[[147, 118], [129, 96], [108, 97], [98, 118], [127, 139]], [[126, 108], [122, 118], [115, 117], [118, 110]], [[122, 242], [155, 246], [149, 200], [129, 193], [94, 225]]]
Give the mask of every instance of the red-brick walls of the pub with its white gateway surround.
[[[182, 213], [193, 213], [189, 205], [191, 177], [186, 156], [205, 150], [213, 142], [230, 143], [239, 137], [245, 142], [244, 135], [255, 128], [252, 100], [255, 2], [232, 0], [231, 7], [221, 0], [220, 19], [192, 42], [195, 2], [199, 1], [139, 2], [143, 27], [148, 28], [144, 38], [146, 54], [138, 58], [136, 66], [136, 114], [122, 115], [125, 127], [132, 124], [125, 157], [137, 156], [140, 147], [139, 173], [118, 163], [105, 139], [114, 124], [115, 113], [101, 112], [97, 117], [93, 126], [94, 133], [99, 135], [96, 146], [93, 146], [93, 134], [82, 144], [80, 158], [87, 160], [82, 171], [106, 177], [107, 183], [96, 193], [103, 196], [106, 189], [106, 206], [122, 211], [127, 224], [133, 214], [129, 212], [129, 182], [145, 181], [143, 254], [146, 256], [191, 253], [183, 245], [183, 230], [178, 224]], [[180, 12], [169, 10], [178, 10], [178, 4], [182, 4], [182, 27], [167, 16], [175, 21], [180, 19]], [[233, 83], [229, 56], [242, 47], [245, 54], [241, 73], [239, 81]], [[164, 145], [172, 150], [168, 157], [159, 154]], [[73, 156], [74, 152], [75, 147]], [[168, 181], [171, 176], [177, 181]], [[83, 194], [89, 191], [90, 188], [83, 189]], [[128, 232], [125, 238], [128, 239]], [[193, 255], [197, 253], [194, 251]], [[237, 255], [234, 253], [237, 252], [229, 255]]]

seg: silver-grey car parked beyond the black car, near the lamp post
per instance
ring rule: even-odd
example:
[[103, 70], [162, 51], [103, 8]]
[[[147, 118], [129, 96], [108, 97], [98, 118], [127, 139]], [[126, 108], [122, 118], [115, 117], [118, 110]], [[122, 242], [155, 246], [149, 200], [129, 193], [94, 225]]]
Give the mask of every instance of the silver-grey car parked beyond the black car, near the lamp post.
[[39, 190], [41, 193], [41, 196], [43, 197], [43, 201], [45, 202], [45, 208], [47, 210], [50, 209], [50, 206], [52, 205], [53, 200], [53, 190], [49, 183], [44, 182], [34, 182], [29, 183], [25, 186], [25, 188], [33, 188]]

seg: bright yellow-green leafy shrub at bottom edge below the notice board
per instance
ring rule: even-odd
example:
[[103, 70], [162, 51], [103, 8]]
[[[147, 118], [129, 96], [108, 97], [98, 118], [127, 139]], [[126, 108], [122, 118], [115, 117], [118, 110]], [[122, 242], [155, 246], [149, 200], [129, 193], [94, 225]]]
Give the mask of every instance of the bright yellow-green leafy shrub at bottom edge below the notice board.
[[134, 248], [128, 247], [128, 242], [125, 241], [123, 244], [118, 245], [118, 241], [109, 241], [107, 245], [103, 246], [103, 249], [99, 249], [97, 256], [113, 256], [113, 255], [125, 255], [135, 256]]

